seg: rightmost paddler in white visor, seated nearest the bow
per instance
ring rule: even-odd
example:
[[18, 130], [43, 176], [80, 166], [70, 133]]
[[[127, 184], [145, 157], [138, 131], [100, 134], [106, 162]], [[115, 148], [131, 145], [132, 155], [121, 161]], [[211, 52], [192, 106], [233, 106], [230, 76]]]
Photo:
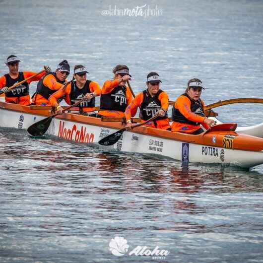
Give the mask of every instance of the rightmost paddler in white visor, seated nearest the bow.
[[172, 110], [172, 132], [199, 134], [204, 132], [201, 125], [207, 129], [215, 122], [205, 117], [204, 102], [200, 99], [202, 81], [192, 78], [187, 83], [185, 93], [178, 97]]

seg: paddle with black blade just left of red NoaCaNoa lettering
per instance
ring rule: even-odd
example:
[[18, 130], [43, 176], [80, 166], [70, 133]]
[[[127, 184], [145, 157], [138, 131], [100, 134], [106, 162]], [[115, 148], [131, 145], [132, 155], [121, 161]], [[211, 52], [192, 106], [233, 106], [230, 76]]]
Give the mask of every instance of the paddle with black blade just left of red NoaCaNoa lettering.
[[[67, 82], [65, 87], [70, 83], [71, 81]], [[78, 102], [76, 102], [73, 105], [70, 105], [68, 107], [66, 107], [66, 109], [63, 110], [63, 113], [66, 112], [67, 110], [69, 110], [70, 108], [73, 108], [75, 106], [77, 106], [79, 103], [81, 103], [82, 101], [84, 101], [85, 98], [83, 98], [82, 100], [79, 100]], [[46, 119], [43, 119], [37, 123], [32, 124], [31, 126], [28, 127], [27, 132], [29, 134], [31, 134], [32, 136], [40, 136], [40, 135], [44, 135], [45, 132], [47, 132], [47, 130], [49, 129], [50, 123], [52, 121], [52, 119], [54, 117], [56, 117], [57, 115], [61, 115], [59, 113], [53, 114], [51, 116], [49, 116]]]

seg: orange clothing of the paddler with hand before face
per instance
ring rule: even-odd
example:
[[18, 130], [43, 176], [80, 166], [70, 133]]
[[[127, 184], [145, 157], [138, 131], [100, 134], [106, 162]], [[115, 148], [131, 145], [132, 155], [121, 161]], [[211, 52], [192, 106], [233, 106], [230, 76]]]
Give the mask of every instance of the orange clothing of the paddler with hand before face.
[[[119, 85], [118, 79], [114, 80], [106, 80], [103, 84], [103, 87], [101, 89], [101, 94], [108, 94], [113, 91], [114, 88], [116, 88]], [[129, 105], [132, 102], [132, 92], [129, 87], [126, 87], [126, 100], [127, 105]], [[99, 114], [102, 116], [108, 116], [108, 117], [124, 117], [124, 112], [121, 111], [115, 111], [115, 110], [101, 110], [99, 111]]]

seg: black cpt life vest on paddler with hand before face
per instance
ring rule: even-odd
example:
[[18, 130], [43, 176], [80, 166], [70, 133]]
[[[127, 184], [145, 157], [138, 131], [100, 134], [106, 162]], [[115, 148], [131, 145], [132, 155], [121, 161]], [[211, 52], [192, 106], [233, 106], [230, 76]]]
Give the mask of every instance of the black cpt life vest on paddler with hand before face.
[[126, 87], [117, 86], [110, 93], [100, 96], [100, 110], [125, 112], [126, 107]]

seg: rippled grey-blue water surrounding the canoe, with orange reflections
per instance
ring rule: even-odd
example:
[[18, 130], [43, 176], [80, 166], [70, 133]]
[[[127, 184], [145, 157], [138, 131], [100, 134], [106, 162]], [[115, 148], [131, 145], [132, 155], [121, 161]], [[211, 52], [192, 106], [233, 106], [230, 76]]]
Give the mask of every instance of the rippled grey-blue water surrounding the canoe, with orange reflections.
[[[0, 0], [0, 75], [15, 54], [21, 70], [84, 64], [101, 85], [127, 64], [135, 93], [156, 70], [171, 100], [192, 77], [207, 87], [206, 104], [263, 97], [263, 1], [161, 0], [149, 3], [159, 16], [101, 15], [144, 4]], [[261, 104], [216, 111], [240, 126], [262, 122]], [[263, 165], [183, 167], [4, 128], [0, 143], [1, 263], [263, 262]], [[109, 250], [116, 236], [127, 240], [124, 256]], [[136, 246], [170, 254], [130, 256]]]

